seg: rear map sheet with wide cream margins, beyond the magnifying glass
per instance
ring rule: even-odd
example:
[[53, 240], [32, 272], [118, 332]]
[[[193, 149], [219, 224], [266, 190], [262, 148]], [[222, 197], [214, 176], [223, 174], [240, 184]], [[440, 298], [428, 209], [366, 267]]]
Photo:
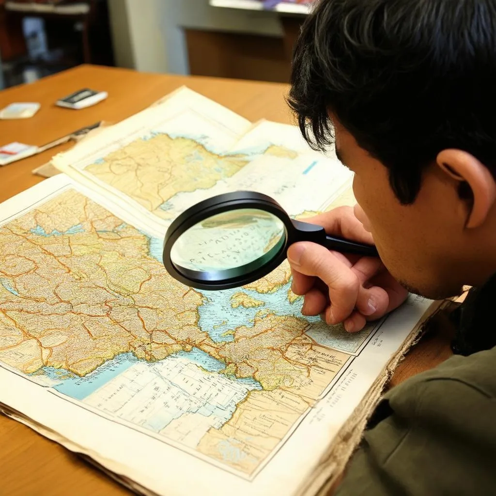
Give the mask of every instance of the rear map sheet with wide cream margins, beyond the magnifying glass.
[[268, 194], [298, 215], [323, 208], [349, 182], [351, 173], [310, 150], [298, 128], [251, 125], [218, 107], [183, 89], [160, 111], [147, 111], [146, 127], [134, 116], [54, 164], [166, 224], [192, 204], [234, 190]]

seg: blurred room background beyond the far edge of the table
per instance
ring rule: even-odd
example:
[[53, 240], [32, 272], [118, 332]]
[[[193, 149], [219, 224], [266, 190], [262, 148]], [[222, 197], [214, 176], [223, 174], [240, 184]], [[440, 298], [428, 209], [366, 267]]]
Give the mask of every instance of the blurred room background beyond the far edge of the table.
[[0, 0], [0, 85], [92, 63], [288, 82], [311, 0]]

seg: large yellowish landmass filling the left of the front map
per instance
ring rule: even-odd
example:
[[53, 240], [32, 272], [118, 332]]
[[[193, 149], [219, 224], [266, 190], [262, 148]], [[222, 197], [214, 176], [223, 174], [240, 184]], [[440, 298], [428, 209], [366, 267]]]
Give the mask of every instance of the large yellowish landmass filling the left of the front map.
[[203, 296], [80, 193], [8, 223], [0, 239], [0, 360], [21, 372], [85, 375], [124, 352], [153, 361], [213, 344], [197, 325]]

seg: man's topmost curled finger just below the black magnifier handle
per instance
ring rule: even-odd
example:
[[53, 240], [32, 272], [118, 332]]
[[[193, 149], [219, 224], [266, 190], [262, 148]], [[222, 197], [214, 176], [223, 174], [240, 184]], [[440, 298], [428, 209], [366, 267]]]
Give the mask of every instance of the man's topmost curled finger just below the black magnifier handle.
[[328, 249], [315, 243], [295, 243], [288, 249], [288, 260], [294, 270], [319, 277], [329, 288], [331, 307], [327, 323], [342, 322], [348, 317], [358, 297], [358, 277]]

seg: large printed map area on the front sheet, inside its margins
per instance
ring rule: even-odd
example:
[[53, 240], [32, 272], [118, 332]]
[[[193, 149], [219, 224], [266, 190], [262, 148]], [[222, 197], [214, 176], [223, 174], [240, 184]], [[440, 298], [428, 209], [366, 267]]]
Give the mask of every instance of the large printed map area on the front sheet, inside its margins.
[[370, 333], [341, 345], [302, 317], [286, 265], [241, 291], [189, 289], [159, 243], [75, 190], [0, 237], [1, 361], [247, 475]]

